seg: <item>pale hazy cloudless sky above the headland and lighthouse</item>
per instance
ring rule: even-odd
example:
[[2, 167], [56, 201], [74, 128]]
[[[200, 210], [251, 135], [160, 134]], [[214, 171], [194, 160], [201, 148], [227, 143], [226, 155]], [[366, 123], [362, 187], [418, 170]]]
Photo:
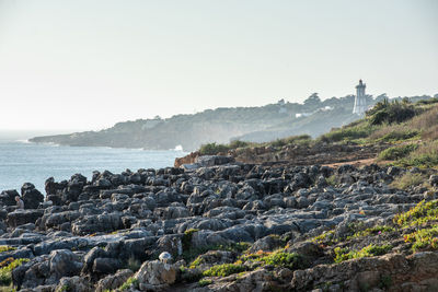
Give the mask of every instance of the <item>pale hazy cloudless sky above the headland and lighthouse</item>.
[[436, 0], [0, 0], [0, 130], [438, 93]]

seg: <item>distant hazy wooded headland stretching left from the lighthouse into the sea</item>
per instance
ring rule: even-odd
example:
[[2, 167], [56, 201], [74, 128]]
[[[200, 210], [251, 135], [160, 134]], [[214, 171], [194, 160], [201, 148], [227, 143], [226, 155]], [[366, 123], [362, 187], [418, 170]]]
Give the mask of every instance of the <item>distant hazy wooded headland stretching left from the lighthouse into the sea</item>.
[[[369, 101], [373, 102], [371, 97]], [[322, 102], [316, 94], [312, 94], [303, 104], [285, 103], [281, 100], [276, 104], [261, 107], [207, 109], [194, 115], [176, 115], [166, 119], [118, 122], [101, 131], [36, 137], [31, 141], [150, 150], [168, 150], [182, 145], [184, 150], [191, 151], [203, 143], [227, 143], [235, 138], [247, 137], [251, 141], [261, 142], [272, 140], [273, 137], [281, 138], [302, 131], [318, 136], [351, 120], [353, 104], [353, 95]], [[297, 118], [297, 114], [304, 116]]]

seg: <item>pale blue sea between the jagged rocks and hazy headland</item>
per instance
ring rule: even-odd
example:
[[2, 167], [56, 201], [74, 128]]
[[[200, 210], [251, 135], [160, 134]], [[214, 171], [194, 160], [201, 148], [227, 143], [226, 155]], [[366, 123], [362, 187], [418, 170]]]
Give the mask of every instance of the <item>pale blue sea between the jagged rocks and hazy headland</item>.
[[139, 168], [173, 166], [175, 157], [186, 153], [174, 150], [113, 149], [105, 147], [66, 147], [30, 143], [27, 139], [41, 132], [0, 131], [0, 192], [32, 183], [45, 195], [48, 177], [56, 182], [69, 179], [80, 173], [91, 179], [93, 171], [120, 173]]

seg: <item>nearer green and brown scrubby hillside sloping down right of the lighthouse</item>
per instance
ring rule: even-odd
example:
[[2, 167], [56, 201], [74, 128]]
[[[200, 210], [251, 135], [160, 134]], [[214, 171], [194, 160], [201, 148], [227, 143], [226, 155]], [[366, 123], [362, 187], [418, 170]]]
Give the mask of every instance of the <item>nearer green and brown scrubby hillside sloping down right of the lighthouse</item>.
[[208, 143], [177, 159], [175, 166], [194, 163], [197, 156], [227, 154], [244, 163], [295, 165], [356, 162], [392, 163], [399, 166], [438, 165], [438, 100], [378, 102], [366, 117], [315, 139], [291, 136], [270, 142], [235, 140]]

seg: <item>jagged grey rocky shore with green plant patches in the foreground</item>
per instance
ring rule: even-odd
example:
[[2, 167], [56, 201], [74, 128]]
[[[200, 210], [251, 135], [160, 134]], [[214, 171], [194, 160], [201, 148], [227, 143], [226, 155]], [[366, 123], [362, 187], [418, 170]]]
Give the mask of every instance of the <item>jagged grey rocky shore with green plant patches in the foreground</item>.
[[[394, 187], [410, 175], [426, 179]], [[15, 190], [0, 195], [0, 282], [4, 291], [437, 291], [436, 242], [415, 246], [410, 220], [422, 217], [408, 213], [428, 206], [434, 217], [437, 184], [435, 171], [418, 168], [220, 156], [193, 170], [49, 178], [46, 197], [24, 184], [24, 210], [13, 208]]]

